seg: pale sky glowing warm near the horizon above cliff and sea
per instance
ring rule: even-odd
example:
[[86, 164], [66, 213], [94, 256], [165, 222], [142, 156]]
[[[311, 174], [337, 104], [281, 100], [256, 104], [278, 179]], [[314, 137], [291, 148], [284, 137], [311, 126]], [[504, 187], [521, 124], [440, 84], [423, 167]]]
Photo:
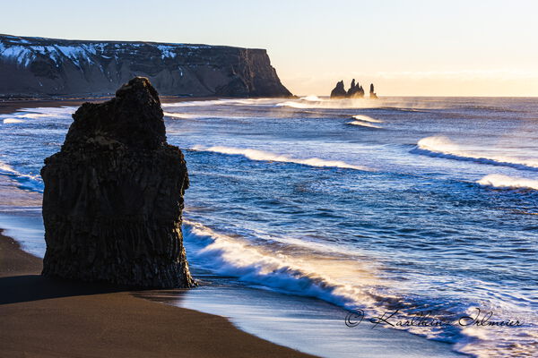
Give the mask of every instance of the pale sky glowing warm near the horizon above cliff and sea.
[[[0, 0], [0, 33], [266, 48], [283, 84], [328, 95], [538, 96], [538, 1]], [[366, 88], [366, 86], [364, 86]]]

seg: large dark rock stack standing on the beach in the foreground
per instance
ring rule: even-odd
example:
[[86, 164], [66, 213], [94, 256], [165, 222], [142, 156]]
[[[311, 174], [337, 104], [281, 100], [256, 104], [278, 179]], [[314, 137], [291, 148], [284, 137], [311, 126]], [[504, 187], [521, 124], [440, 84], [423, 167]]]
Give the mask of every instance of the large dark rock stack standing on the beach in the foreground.
[[73, 118], [62, 149], [41, 169], [43, 275], [193, 286], [181, 234], [187, 165], [166, 141], [150, 81], [134, 78]]

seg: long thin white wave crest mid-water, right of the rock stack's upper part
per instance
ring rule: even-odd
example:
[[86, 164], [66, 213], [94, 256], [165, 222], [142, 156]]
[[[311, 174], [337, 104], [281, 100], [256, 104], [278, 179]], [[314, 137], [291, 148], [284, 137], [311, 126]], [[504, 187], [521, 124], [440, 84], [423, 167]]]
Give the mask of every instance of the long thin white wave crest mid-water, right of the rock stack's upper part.
[[244, 149], [244, 148], [233, 148], [233, 147], [222, 147], [214, 146], [209, 148], [204, 148], [203, 146], [193, 147], [195, 150], [199, 151], [213, 151], [221, 154], [231, 154], [231, 155], [242, 155], [251, 160], [264, 160], [264, 161], [273, 161], [273, 162], [287, 162], [287, 163], [297, 163], [305, 166], [334, 166], [342, 167], [348, 169], [372, 171], [372, 169], [366, 166], [353, 166], [349, 163], [343, 162], [342, 160], [325, 160], [320, 158], [291, 158], [288, 156], [271, 153], [264, 150], [258, 149]]

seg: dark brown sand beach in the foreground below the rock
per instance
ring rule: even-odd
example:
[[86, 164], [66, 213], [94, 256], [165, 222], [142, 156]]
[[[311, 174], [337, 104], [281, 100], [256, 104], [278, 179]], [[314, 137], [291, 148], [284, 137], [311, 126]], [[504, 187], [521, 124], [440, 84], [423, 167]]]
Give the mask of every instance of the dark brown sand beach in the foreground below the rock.
[[139, 298], [140, 291], [41, 277], [41, 266], [0, 230], [6, 356], [312, 356], [250, 335], [224, 317]]

